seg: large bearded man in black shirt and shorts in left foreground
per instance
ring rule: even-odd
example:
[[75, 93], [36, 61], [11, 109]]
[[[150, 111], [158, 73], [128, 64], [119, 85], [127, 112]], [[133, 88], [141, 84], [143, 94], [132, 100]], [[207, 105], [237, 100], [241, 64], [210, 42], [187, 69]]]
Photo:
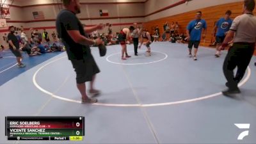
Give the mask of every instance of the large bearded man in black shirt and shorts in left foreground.
[[56, 20], [58, 35], [66, 47], [68, 59], [76, 71], [77, 88], [82, 95], [82, 102], [92, 104], [97, 99], [90, 99], [86, 94], [85, 82], [90, 81], [90, 93], [99, 94], [99, 90], [93, 88], [95, 75], [100, 72], [91, 54], [89, 45], [100, 45], [100, 39], [90, 40], [86, 34], [97, 29], [102, 29], [104, 24], [85, 28], [76, 17], [80, 13], [79, 0], [63, 0], [66, 9], [61, 10]]

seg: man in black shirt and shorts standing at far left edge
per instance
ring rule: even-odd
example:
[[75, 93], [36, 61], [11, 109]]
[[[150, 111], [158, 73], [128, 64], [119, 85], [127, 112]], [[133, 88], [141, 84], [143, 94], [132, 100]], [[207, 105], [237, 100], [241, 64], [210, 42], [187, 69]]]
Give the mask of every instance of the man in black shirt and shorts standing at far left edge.
[[10, 50], [12, 51], [12, 53], [17, 58], [18, 67], [19, 68], [26, 67], [26, 65], [21, 63], [21, 57], [22, 56], [21, 56], [21, 53], [20, 53], [20, 50], [19, 50], [20, 44], [19, 44], [19, 40], [14, 35], [14, 33], [15, 33], [14, 26], [10, 26], [9, 29], [10, 29], [10, 33], [8, 34], [7, 38], [8, 38]]

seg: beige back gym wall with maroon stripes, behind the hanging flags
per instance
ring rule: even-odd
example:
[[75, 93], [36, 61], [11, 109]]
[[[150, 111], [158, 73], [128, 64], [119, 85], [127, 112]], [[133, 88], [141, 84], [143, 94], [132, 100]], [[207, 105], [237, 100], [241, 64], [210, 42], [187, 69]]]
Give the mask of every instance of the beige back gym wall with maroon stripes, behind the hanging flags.
[[[144, 1], [144, 0], [141, 0]], [[8, 4], [12, 1], [6, 0]], [[26, 33], [29, 36], [29, 28], [38, 29], [42, 32], [43, 28], [46, 28], [49, 33], [55, 31], [55, 20], [60, 11], [60, 6], [55, 1], [27, 1], [27, 3], [19, 3], [15, 1], [10, 8], [11, 19], [8, 19], [8, 26], [23, 26], [26, 29]], [[44, 2], [44, 3], [43, 3]], [[77, 15], [79, 19], [88, 26], [95, 24], [110, 23], [113, 24], [113, 32], [118, 32], [120, 29], [129, 27], [133, 22], [142, 24], [144, 22], [144, 3], [114, 3], [115, 1], [104, 1], [104, 3], [94, 3], [93, 1], [87, 1], [84, 3], [81, 0], [81, 13]], [[119, 1], [118, 1], [119, 2]], [[122, 1], [120, 1], [122, 2]], [[60, 3], [60, 0], [59, 0]], [[109, 17], [100, 17], [99, 10], [108, 10]], [[35, 20], [32, 12], [42, 11], [44, 12], [44, 20]], [[108, 28], [99, 31], [99, 33], [106, 33]], [[8, 33], [7, 28], [0, 28], [0, 44], [3, 44], [3, 35]], [[50, 36], [50, 39], [52, 37]]]

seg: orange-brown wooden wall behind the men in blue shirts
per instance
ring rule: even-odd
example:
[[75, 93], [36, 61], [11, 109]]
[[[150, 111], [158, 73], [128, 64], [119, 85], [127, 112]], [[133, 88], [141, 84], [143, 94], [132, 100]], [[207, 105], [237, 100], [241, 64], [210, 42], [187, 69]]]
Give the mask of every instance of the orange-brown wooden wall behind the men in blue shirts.
[[[194, 0], [197, 1], [197, 0]], [[191, 1], [192, 3], [193, 1]], [[172, 15], [169, 17], [163, 17], [161, 19], [156, 19], [156, 20], [150, 20], [148, 22], [145, 22], [145, 24], [143, 24], [145, 26], [145, 28], [147, 28], [151, 33], [153, 33], [153, 28], [155, 26], [159, 26], [160, 29], [160, 33], [163, 33], [163, 25], [164, 22], [179, 22], [180, 25], [180, 33], [185, 33], [186, 32], [186, 26], [188, 25], [188, 23], [195, 19], [195, 14], [196, 12], [200, 10], [202, 11], [202, 19], [205, 19], [207, 22], [207, 35], [205, 38], [205, 42], [204, 40], [202, 40], [202, 42], [200, 43], [200, 45], [202, 46], [209, 46], [211, 44], [211, 40], [214, 40], [214, 38], [212, 38], [212, 29], [214, 27], [214, 22], [216, 22], [218, 19], [220, 19], [220, 17], [224, 17], [225, 12], [227, 10], [231, 10], [232, 11], [232, 19], [234, 19], [235, 17], [237, 17], [238, 15], [241, 15], [241, 13], [243, 12], [243, 2], [236, 2], [236, 3], [227, 3], [227, 4], [218, 4], [216, 6], [210, 6], [207, 8], [201, 8], [201, 9], [196, 9], [193, 11], [189, 11], [189, 12], [185, 12], [185, 13], [180, 13], [177, 15]], [[256, 11], [254, 12], [256, 14]], [[256, 54], [256, 51], [255, 51]]]

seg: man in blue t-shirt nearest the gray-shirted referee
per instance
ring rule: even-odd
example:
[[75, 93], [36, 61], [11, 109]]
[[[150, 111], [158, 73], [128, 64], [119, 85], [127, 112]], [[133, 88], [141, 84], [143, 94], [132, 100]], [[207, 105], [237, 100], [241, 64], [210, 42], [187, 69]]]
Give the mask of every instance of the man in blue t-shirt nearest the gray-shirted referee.
[[212, 31], [212, 36], [213, 36], [217, 29], [217, 34], [216, 34], [217, 45], [216, 45], [216, 54], [215, 54], [216, 58], [220, 57], [221, 51], [219, 51], [218, 49], [220, 45], [223, 43], [225, 36], [231, 27], [231, 24], [232, 24], [232, 19], [230, 19], [231, 13], [232, 12], [228, 10], [225, 13], [225, 17], [222, 17], [220, 20], [218, 20], [218, 22], [216, 23]]

